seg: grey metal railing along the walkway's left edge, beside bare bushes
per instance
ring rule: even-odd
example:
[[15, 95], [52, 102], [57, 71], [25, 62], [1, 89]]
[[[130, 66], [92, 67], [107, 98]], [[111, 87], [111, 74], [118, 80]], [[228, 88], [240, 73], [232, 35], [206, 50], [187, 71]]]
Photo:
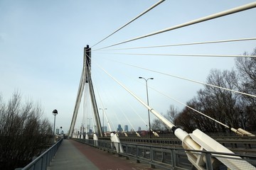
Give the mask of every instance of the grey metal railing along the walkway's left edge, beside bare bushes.
[[63, 139], [59, 140], [57, 143], [55, 143], [55, 145], [47, 149], [46, 152], [43, 152], [43, 154], [34, 159], [33, 162], [29, 163], [21, 170], [46, 170], [47, 166], [50, 165], [51, 159], [53, 159], [55, 153], [57, 152], [58, 147], [60, 147], [61, 142], [63, 142]]

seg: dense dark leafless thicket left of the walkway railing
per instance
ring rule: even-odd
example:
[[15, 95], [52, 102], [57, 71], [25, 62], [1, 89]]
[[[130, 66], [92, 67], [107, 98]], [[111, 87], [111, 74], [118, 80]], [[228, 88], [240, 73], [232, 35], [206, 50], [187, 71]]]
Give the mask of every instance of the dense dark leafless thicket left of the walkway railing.
[[7, 104], [0, 96], [0, 169], [26, 166], [46, 149], [52, 138], [51, 125], [42, 118], [41, 106], [15, 92]]

